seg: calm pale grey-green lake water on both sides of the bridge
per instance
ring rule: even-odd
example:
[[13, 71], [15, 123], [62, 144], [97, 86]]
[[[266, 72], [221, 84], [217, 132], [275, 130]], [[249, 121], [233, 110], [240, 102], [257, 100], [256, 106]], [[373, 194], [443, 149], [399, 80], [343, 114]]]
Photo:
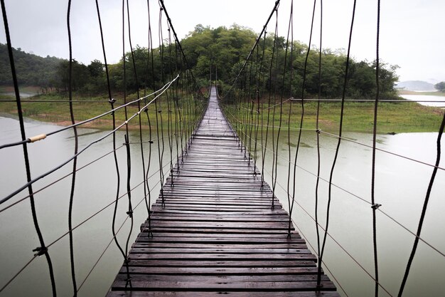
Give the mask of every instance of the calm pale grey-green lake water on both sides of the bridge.
[[[57, 129], [55, 125], [28, 121], [26, 123], [27, 135], [38, 135]], [[80, 129], [80, 148], [96, 140], [105, 132], [92, 129]], [[147, 132], [146, 132], [147, 134]], [[144, 135], [144, 140], [148, 135]], [[12, 118], [0, 118], [0, 144], [17, 141], [18, 121]], [[296, 146], [296, 132], [291, 133], [292, 154]], [[357, 142], [371, 145], [372, 135], [361, 133], [348, 133], [345, 135]], [[404, 133], [399, 135], [379, 135], [378, 147], [382, 150], [397, 152], [422, 162], [434, 163], [436, 159], [436, 133]], [[154, 136], [154, 138], [156, 138]], [[139, 135], [133, 133], [130, 139], [139, 141]], [[124, 133], [117, 133], [118, 145], [124, 142]], [[321, 135], [321, 177], [328, 179], [331, 170], [333, 155], [337, 140], [328, 135]], [[286, 189], [288, 168], [288, 143], [286, 132], [282, 131], [279, 142], [279, 152], [283, 159], [279, 159], [279, 184]], [[163, 164], [169, 162], [168, 142], [165, 142], [166, 154]], [[442, 141], [442, 145], [445, 145]], [[159, 168], [157, 144], [155, 142], [151, 156], [152, 199], [159, 195]], [[48, 137], [46, 140], [28, 146], [30, 151], [31, 169], [33, 177], [55, 167], [58, 163], [73, 155], [73, 133], [65, 131]], [[175, 145], [173, 145], [174, 151]], [[269, 144], [272, 148], [272, 143]], [[79, 167], [95, 160], [112, 150], [111, 137], [97, 145], [92, 146], [85, 154], [79, 157]], [[132, 145], [132, 187], [142, 181], [142, 169], [139, 145]], [[167, 153], [168, 152], [168, 153]], [[258, 156], [260, 149], [258, 149]], [[126, 163], [127, 155], [124, 148], [117, 151], [121, 170], [121, 194], [126, 192]], [[371, 180], [371, 153], [372, 150], [354, 142], [343, 141], [338, 155], [338, 164], [334, 172], [333, 183], [336, 186], [353, 192], [365, 201], [370, 201]], [[146, 145], [146, 159], [148, 145]], [[292, 157], [293, 158], [293, 157]], [[444, 159], [444, 157], [442, 158]], [[304, 132], [297, 164], [301, 167], [296, 170], [296, 202], [313, 217], [314, 193], [316, 178], [316, 133]], [[261, 164], [259, 160], [258, 164]], [[272, 155], [268, 154], [265, 160], [267, 170], [270, 172]], [[4, 197], [26, 182], [24, 174], [23, 153], [21, 147], [0, 150], [0, 196]], [[51, 174], [42, 181], [36, 182], [34, 190], [58, 179], [70, 172], [72, 165], [68, 165], [60, 172]], [[445, 167], [445, 161], [441, 161]], [[168, 175], [168, 168], [165, 170]], [[311, 173], [309, 173], [311, 172]], [[432, 168], [421, 165], [385, 152], [377, 152], [376, 168], [376, 202], [382, 204], [380, 210], [406, 226], [409, 230], [417, 229], [419, 217], [431, 177]], [[267, 182], [271, 181], [270, 174], [266, 172]], [[104, 205], [114, 201], [117, 178], [114, 170], [112, 155], [104, 157], [85, 170], [77, 174], [75, 188], [75, 201], [73, 207], [73, 224], [82, 222]], [[286, 194], [277, 185], [277, 196], [286, 207]], [[70, 178], [36, 194], [36, 209], [41, 224], [45, 243], [49, 244], [68, 230], [68, 201]], [[436, 175], [427, 217], [424, 222], [422, 238], [435, 246], [442, 253], [445, 252], [445, 172], [439, 170]], [[328, 184], [321, 181], [319, 216], [322, 225], [326, 222], [326, 200]], [[7, 204], [25, 197], [25, 192], [18, 194]], [[132, 194], [133, 204], [141, 201], [142, 187], [138, 187]], [[329, 233], [343, 246], [348, 253], [373, 274], [372, 254], [372, 209], [370, 204], [354, 197], [341, 189], [333, 187], [331, 202], [331, 221]], [[292, 217], [301, 233], [316, 247], [315, 223], [298, 205], [294, 208]], [[95, 261], [99, 259], [102, 251], [112, 240], [112, 212], [109, 207], [100, 215], [91, 219], [74, 231], [75, 239], [75, 267], [77, 285], [86, 278]], [[117, 226], [120, 226], [127, 217], [127, 197], [119, 202]], [[382, 212], [377, 212], [377, 246], [379, 253], [380, 282], [392, 296], [397, 296], [402, 281], [409, 253], [412, 249], [414, 236], [402, 229], [392, 219]], [[146, 219], [147, 213], [144, 203], [134, 212], [134, 231], [130, 242], [134, 241], [139, 225]], [[129, 221], [119, 232], [119, 242], [124, 244], [129, 232]], [[4, 212], [0, 212], [0, 287], [4, 285], [32, 256], [32, 249], [38, 246], [36, 231], [33, 227], [31, 211], [28, 200], [17, 204]], [[50, 247], [50, 256], [55, 269], [55, 281], [59, 296], [72, 295], [70, 283], [70, 261], [68, 237], [58, 241]], [[348, 296], [374, 296], [372, 279], [363, 272], [338, 245], [328, 238], [326, 244], [325, 263], [338, 282], [345, 288]], [[111, 285], [114, 276], [122, 265], [122, 256], [114, 243], [105, 252], [102, 260], [82, 286], [79, 296], [104, 296]], [[4, 269], [8, 268], [8, 269]], [[411, 273], [403, 296], [445, 296], [441, 287], [445, 277], [445, 258], [424, 243], [419, 244], [417, 255], [412, 265]], [[340, 288], [339, 288], [339, 290]], [[341, 292], [342, 293], [342, 292]], [[343, 294], [343, 293], [342, 293]], [[0, 296], [50, 296], [50, 281], [48, 266], [45, 258], [37, 258], [21, 273]], [[346, 295], [343, 295], [346, 296]], [[380, 290], [380, 296], [388, 296]]]

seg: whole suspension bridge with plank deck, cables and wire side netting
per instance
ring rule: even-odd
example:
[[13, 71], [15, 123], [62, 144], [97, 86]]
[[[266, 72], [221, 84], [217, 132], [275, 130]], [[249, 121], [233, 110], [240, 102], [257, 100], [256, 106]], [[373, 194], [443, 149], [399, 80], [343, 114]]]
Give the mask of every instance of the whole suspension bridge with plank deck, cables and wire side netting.
[[[242, 66], [240, 65], [239, 73], [235, 75], [231, 85], [225, 85], [221, 97], [216, 88], [218, 78], [213, 76], [215, 73], [212, 69], [207, 90], [203, 88], [202, 83], [198, 84], [176, 36], [167, 12], [168, 7], [162, 0], [157, 2], [158, 28], [151, 24], [150, 11], [153, 7], [151, 1], [147, 1], [149, 51], [144, 67], [146, 73], [152, 74], [153, 81], [149, 88], [139, 85], [138, 82], [132, 48], [129, 1], [122, 1], [122, 55], [126, 55], [126, 39], [130, 44], [131, 55], [127, 56], [129, 59], [122, 59], [122, 92], [113, 96], [109, 83], [100, 5], [98, 1], [95, 2], [108, 91], [108, 100], [100, 104], [109, 104], [109, 109], [87, 120], [76, 120], [73, 105], [88, 106], [99, 103], [73, 98], [73, 55], [68, 1], [68, 99], [55, 100], [53, 103], [68, 105], [71, 123], [63, 127], [39, 127], [38, 133], [30, 136], [34, 130], [30, 131], [26, 125], [23, 106], [36, 103], [37, 100], [33, 102], [21, 98], [6, 8], [4, 0], [1, 0], [19, 129], [13, 137], [0, 143], [0, 154], [6, 156], [6, 160], [19, 150], [23, 152], [23, 160], [20, 159], [13, 166], [23, 167], [24, 164], [21, 171], [26, 174], [23, 174], [23, 179], [7, 182], [2, 189], [0, 219], [4, 221], [0, 222], [2, 226], [6, 226], [6, 222], [9, 224], [9, 220], [12, 221], [11, 217], [21, 218], [23, 214], [29, 221], [28, 224], [20, 220], [15, 222], [14, 226], [17, 226], [16, 229], [26, 226], [27, 231], [31, 233], [21, 236], [21, 244], [16, 244], [12, 239], [14, 236], [11, 236], [8, 242], [3, 240], [7, 237], [4, 234], [10, 234], [10, 231], [2, 229], [2, 244], [9, 248], [9, 251], [5, 252], [6, 256], [2, 254], [1, 261], [6, 262], [5, 265], [11, 266], [11, 269], [2, 271], [4, 274], [0, 281], [0, 296], [21, 296], [34, 292], [34, 288], [30, 288], [31, 291], [21, 293], [31, 287], [28, 286], [30, 283], [38, 283], [36, 290], [41, 290], [38, 291], [39, 294], [52, 293], [53, 296], [60, 295], [61, 292], [62, 296], [109, 297], [222, 294], [333, 297], [354, 296], [354, 293], [348, 291], [356, 292], [357, 287], [363, 287], [359, 290], [361, 295], [365, 292], [369, 296], [405, 296], [406, 285], [409, 287], [408, 292], [414, 292], [407, 296], [419, 296], [419, 293], [416, 293], [418, 291], [413, 289], [418, 286], [412, 285], [412, 279], [409, 278], [419, 254], [418, 246], [427, 249], [428, 254], [434, 254], [434, 259], [437, 260], [434, 264], [442, 263], [445, 258], [441, 241], [422, 234], [431, 197], [437, 199], [434, 192], [437, 180], [439, 179], [439, 183], [443, 182], [441, 174], [445, 169], [441, 163], [441, 136], [445, 127], [445, 115], [441, 123], [437, 123], [434, 158], [428, 161], [378, 146], [377, 113], [382, 102], [390, 102], [379, 95], [380, 1], [377, 1], [379, 9], [376, 18], [376, 98], [370, 100], [374, 103], [370, 143], [343, 135], [355, 1], [345, 72], [342, 74], [343, 97], [338, 100], [321, 98], [322, 1], [313, 2], [311, 25], [313, 27], [316, 9], [319, 8], [321, 32], [317, 56], [318, 98], [310, 99], [305, 98], [305, 83], [308, 57], [312, 53], [313, 31], [311, 28], [303, 80], [300, 82], [295, 79], [292, 64], [296, 51], [292, 35], [294, 1], [290, 1], [288, 36], [284, 38], [284, 43], [280, 43], [284, 54], [277, 54], [280, 42], [277, 33], [280, 9], [278, 0], [274, 2], [271, 14], [267, 17], [252, 50]], [[272, 24], [273, 21], [275, 24]], [[127, 35], [125, 24], [128, 26]], [[274, 27], [275, 30], [272, 33], [273, 44], [265, 51], [268, 26]], [[154, 48], [153, 45], [152, 32], [156, 29], [159, 31], [159, 48]], [[129, 64], [133, 66], [134, 73], [126, 72], [126, 65]], [[154, 78], [156, 67], [161, 69], [158, 80]], [[127, 94], [128, 75], [134, 75], [138, 85], [132, 99]], [[296, 84], [301, 84], [301, 88], [296, 88]], [[302, 90], [301, 94], [295, 94], [297, 89]], [[144, 95], [141, 95], [142, 92]], [[317, 118], [314, 127], [308, 127], [304, 123], [305, 106], [311, 101], [316, 102]], [[337, 123], [338, 132], [333, 133], [321, 128], [318, 115], [321, 113], [321, 103], [336, 102], [341, 104], [341, 113]], [[297, 115], [296, 110], [301, 114]], [[124, 119], [119, 120], [119, 113]], [[108, 129], [100, 133], [92, 132], [92, 137], [82, 143], [82, 137], [90, 133], [79, 135], [80, 129], [89, 123], [105, 119], [109, 123]], [[307, 144], [305, 147], [302, 140], [304, 132], [312, 133], [316, 139], [313, 147]], [[71, 133], [68, 138], [72, 140], [70, 143], [73, 150], [68, 157], [64, 155], [63, 160], [44, 167], [43, 172], [33, 170], [33, 157], [36, 157], [33, 148], [40, 144], [50, 145], [52, 140], [64, 133]], [[323, 166], [321, 150], [327, 142], [322, 142], [322, 139], [333, 139], [335, 142], [333, 147], [328, 147], [332, 156], [328, 157], [330, 164], [327, 168]], [[122, 140], [124, 142], [119, 145]], [[282, 142], [285, 145], [282, 145]], [[107, 144], [107, 152], [94, 157], [84, 157], [94, 151], [94, 147], [104, 143]], [[345, 143], [352, 143], [370, 152], [369, 193], [363, 194], [360, 190], [350, 189], [354, 183], [360, 182], [359, 177], [352, 177], [353, 182], [346, 185], [335, 179], [339, 174], [336, 168], [339, 166], [338, 159], [342, 158], [341, 147], [345, 146]], [[311, 147], [312, 152], [316, 151], [315, 169], [304, 167], [304, 162], [301, 162], [301, 151], [307, 147]], [[50, 149], [45, 147], [44, 150], [46, 152]], [[416, 204], [420, 214], [419, 222], [415, 226], [402, 222], [400, 217], [391, 212], [390, 207], [387, 209], [385, 205], [382, 206], [384, 195], [376, 197], [376, 167], [379, 168], [377, 154], [422, 166], [422, 172], [428, 172], [426, 179], [417, 181], [419, 187], [427, 187], [427, 193], [422, 193], [422, 203]], [[41, 153], [38, 157], [44, 155], [45, 153]], [[107, 164], [101, 163], [103, 160], [107, 160]], [[68, 167], [70, 168], [67, 169]], [[82, 187], [90, 185], [90, 181], [84, 180], [82, 183], [80, 179], [82, 173], [88, 171], [93, 172], [93, 175], [95, 172], [104, 175], [105, 185], [98, 189], [98, 192], [94, 192], [95, 189], [90, 189], [86, 194], [82, 192]], [[303, 174], [309, 174], [311, 182], [307, 182]], [[299, 184], [301, 181], [304, 182], [303, 187]], [[97, 183], [96, 187], [100, 187], [99, 184]], [[321, 184], [324, 184], [324, 187]], [[48, 193], [58, 187], [63, 188], [62, 192], [68, 192], [63, 199], [68, 207], [55, 209], [54, 205], [60, 203], [60, 199], [55, 197], [63, 195]], [[82, 194], [77, 194], [79, 192]], [[311, 194], [308, 194], [309, 192]], [[158, 198], [152, 204], [154, 195]], [[307, 202], [304, 201], [306, 196], [313, 197], [306, 204], [313, 207], [312, 209], [304, 204]], [[342, 210], [338, 216], [341, 218], [333, 219], [331, 214], [335, 210], [331, 207], [338, 205], [338, 199], [333, 199], [337, 196], [348, 197], [346, 208], [356, 205], [351, 201], [357, 202], [359, 206], [352, 211]], [[301, 226], [294, 222], [295, 208], [299, 208], [298, 219], [305, 217], [309, 219], [311, 228], [314, 227], [310, 234], [303, 234]], [[336, 230], [336, 222], [345, 217], [353, 217], [353, 212], [364, 213], [368, 219], [363, 219], [365, 223], [348, 221], [340, 231]], [[402, 260], [403, 264], [387, 264], [390, 261], [379, 259], [379, 231], [382, 232], [382, 229], [387, 227], [379, 226], [379, 220], [385, 220], [385, 224], [399, 228], [404, 236], [409, 237], [409, 241], [403, 241], [407, 242], [409, 249], [404, 251], [406, 259]], [[135, 232], [134, 226], [139, 224], [140, 231]], [[361, 224], [362, 229], [351, 230], [355, 225]], [[89, 230], [82, 234], [80, 230], [87, 226], [97, 232], [92, 235]], [[365, 233], [370, 239], [367, 244], [355, 242], [355, 245], [364, 246], [363, 249], [368, 253], [365, 259], [358, 259], [356, 251], [345, 247], [348, 243], [343, 235], [358, 233]], [[93, 238], [101, 238], [103, 241], [95, 243]], [[30, 253], [33, 251], [33, 256], [23, 252], [20, 259], [16, 259], [18, 246]], [[334, 249], [336, 252], [333, 255], [326, 256]], [[2, 253], [6, 251], [1, 250]], [[398, 251], [395, 253], [399, 254]], [[342, 259], [348, 259], [349, 264], [346, 266], [345, 261], [339, 260], [331, 270], [326, 258], [332, 261], [339, 254], [345, 255]], [[9, 265], [9, 259], [14, 260], [14, 266]], [[386, 254], [383, 259], [387, 260]], [[114, 266], [107, 266], [109, 263]], [[385, 269], [379, 269], [379, 264], [391, 274], [397, 274], [397, 278], [388, 276]], [[351, 268], [351, 265], [354, 268]], [[445, 274], [441, 268], [436, 272], [429, 271], [427, 278], [441, 279]], [[359, 271], [365, 278], [357, 281], [354, 275], [357, 272], [350, 271]], [[344, 277], [336, 278], [339, 274], [346, 274], [346, 278], [353, 280], [350, 281], [352, 285], [345, 285]], [[100, 285], [101, 281], [105, 283]], [[27, 285], [23, 286], [23, 283]], [[45, 288], [41, 288], [43, 286]], [[420, 286], [420, 291], [424, 290], [425, 288]]]

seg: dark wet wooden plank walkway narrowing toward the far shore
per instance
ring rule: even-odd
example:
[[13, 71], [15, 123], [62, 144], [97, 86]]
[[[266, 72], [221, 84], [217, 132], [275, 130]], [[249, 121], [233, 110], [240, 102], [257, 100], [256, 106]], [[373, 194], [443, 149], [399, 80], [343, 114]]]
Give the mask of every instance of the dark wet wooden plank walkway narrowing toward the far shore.
[[[215, 90], [193, 144], [152, 207], [129, 254], [131, 288], [122, 266], [108, 297], [301, 296], [338, 297], [323, 275], [316, 290], [316, 256], [289, 215], [248, 164], [218, 107]], [[171, 186], [173, 178], [173, 187]]]

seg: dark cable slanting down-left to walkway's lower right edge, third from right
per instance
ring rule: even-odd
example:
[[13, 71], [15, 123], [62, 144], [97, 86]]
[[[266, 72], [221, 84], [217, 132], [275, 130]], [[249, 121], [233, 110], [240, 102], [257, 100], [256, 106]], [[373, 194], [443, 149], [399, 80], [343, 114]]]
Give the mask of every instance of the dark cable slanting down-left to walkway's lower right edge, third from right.
[[[355, 18], [355, 5], [357, 3], [357, 0], [354, 0], [354, 4], [353, 4], [353, 15], [352, 15], [352, 20], [350, 23], [350, 32], [349, 32], [349, 41], [348, 41], [348, 54], [346, 56], [346, 66], [345, 66], [345, 80], [343, 83], [343, 95], [341, 98], [341, 113], [340, 113], [340, 127], [338, 128], [338, 142], [337, 142], [337, 147], [336, 147], [336, 153], [334, 155], [334, 159], [332, 162], [332, 167], [331, 167], [331, 173], [329, 175], [329, 186], [328, 186], [328, 205], [326, 207], [326, 226], [325, 226], [325, 231], [324, 231], [324, 236], [323, 236], [323, 244], [321, 245], [321, 252], [320, 252], [320, 256], [319, 259], [322, 261], [323, 260], [323, 254], [324, 254], [324, 249], [326, 246], [326, 237], [328, 235], [328, 227], [329, 227], [329, 214], [331, 211], [331, 198], [332, 198], [332, 179], [333, 179], [333, 172], [336, 168], [336, 162], [337, 162], [337, 157], [338, 157], [338, 151], [340, 150], [340, 145], [341, 145], [341, 139], [342, 139], [342, 132], [343, 132], [343, 114], [344, 114], [344, 108], [345, 108], [345, 96], [346, 96], [346, 86], [348, 85], [348, 71], [349, 71], [349, 59], [350, 59], [350, 44], [352, 42], [352, 38], [353, 38], [353, 28], [354, 28], [354, 18]], [[321, 273], [321, 261], [318, 262], [318, 273]]]

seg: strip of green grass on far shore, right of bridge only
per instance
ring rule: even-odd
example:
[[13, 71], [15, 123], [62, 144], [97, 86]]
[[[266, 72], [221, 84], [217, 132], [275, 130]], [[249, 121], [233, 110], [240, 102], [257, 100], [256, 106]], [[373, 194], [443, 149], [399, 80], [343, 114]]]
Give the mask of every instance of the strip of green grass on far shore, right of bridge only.
[[[301, 103], [284, 103], [282, 127], [287, 127], [289, 122], [289, 110], [291, 108], [292, 128], [298, 129], [301, 119]], [[242, 109], [243, 110], [243, 109]], [[242, 110], [238, 116], [242, 117]], [[304, 129], [316, 129], [317, 104], [309, 102], [304, 104]], [[248, 110], [248, 117], [250, 113]], [[279, 126], [279, 106], [276, 106], [277, 115], [273, 125]], [[379, 103], [377, 110], [377, 132], [400, 133], [400, 132], [433, 132], [439, 130], [444, 110], [431, 108], [418, 103], [403, 101], [400, 103]], [[267, 121], [267, 105], [262, 107], [261, 121]], [[257, 120], [257, 113], [254, 113], [254, 123]], [[372, 132], [374, 122], [374, 103], [346, 102], [343, 113], [343, 130], [349, 132]], [[319, 128], [326, 132], [337, 132], [340, 127], [341, 103], [321, 103]], [[272, 110], [270, 111], [270, 123], [272, 126]]]

